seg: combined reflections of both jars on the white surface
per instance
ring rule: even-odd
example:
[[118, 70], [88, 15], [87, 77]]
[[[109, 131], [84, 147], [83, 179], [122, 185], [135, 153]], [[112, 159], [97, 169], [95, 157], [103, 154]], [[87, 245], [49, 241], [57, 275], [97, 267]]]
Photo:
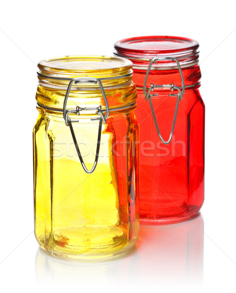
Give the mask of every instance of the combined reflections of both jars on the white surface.
[[[120, 280], [133, 289], [169, 285], [200, 285], [203, 279], [204, 223], [201, 214], [172, 225], [141, 225], [137, 249], [115, 261], [68, 262], [38, 250], [36, 276], [40, 284], [112, 286]], [[79, 276], [79, 277], [78, 277]], [[171, 283], [170, 283], [171, 280]], [[135, 284], [135, 285], [134, 285]], [[134, 287], [135, 286], [135, 287]], [[147, 290], [146, 290], [147, 291]], [[106, 292], [106, 290], [105, 290]]]

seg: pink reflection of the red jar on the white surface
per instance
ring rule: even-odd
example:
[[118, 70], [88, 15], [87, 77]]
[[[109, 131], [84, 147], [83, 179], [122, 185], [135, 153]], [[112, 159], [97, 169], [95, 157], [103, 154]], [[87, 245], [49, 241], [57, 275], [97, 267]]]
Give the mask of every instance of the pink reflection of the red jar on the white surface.
[[[195, 283], [203, 278], [204, 221], [193, 220], [171, 225], [141, 225], [137, 242], [140, 281], [147, 284]], [[148, 268], [148, 269], [147, 269]]]

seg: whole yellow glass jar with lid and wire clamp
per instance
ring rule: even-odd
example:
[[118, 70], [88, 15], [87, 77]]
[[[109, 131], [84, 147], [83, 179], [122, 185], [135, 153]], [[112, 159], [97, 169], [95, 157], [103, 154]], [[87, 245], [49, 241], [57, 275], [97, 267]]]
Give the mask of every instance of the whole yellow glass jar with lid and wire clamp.
[[132, 63], [76, 56], [44, 60], [38, 67], [36, 238], [62, 257], [127, 251], [139, 231]]

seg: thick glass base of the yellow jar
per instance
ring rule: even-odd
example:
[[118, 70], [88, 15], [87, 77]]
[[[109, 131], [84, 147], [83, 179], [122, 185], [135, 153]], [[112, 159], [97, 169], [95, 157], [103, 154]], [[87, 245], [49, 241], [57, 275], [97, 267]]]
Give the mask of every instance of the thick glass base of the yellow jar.
[[80, 226], [73, 228], [58, 227], [53, 237], [46, 243], [38, 242], [47, 254], [61, 259], [75, 261], [102, 261], [119, 257], [134, 246], [124, 227]]

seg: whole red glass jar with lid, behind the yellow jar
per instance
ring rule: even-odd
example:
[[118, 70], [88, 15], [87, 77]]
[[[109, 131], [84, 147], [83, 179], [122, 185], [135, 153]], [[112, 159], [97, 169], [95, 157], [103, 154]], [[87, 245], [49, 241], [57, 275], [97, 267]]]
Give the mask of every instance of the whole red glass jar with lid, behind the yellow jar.
[[114, 54], [134, 64], [144, 223], [183, 221], [203, 204], [205, 106], [198, 47], [194, 40], [167, 36], [114, 44]]

